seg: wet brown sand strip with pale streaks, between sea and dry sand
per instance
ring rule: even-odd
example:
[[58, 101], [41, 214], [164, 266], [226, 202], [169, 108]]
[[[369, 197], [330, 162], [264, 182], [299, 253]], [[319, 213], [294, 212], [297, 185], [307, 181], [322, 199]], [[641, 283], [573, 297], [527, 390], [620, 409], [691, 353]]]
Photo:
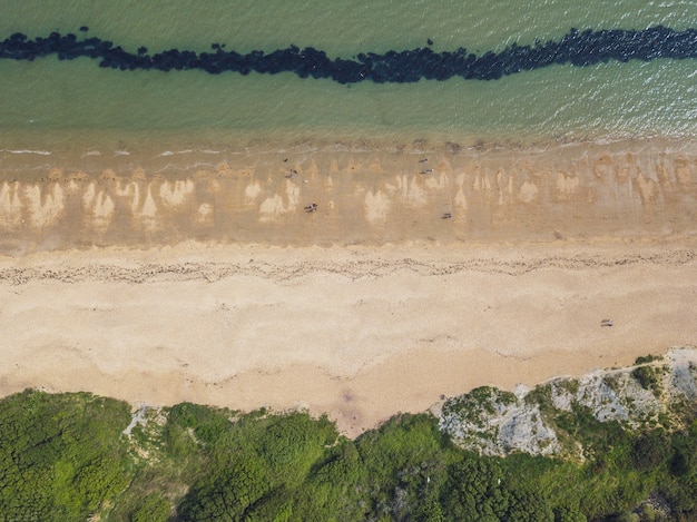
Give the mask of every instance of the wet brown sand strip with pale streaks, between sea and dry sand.
[[696, 235], [697, 142], [670, 144], [95, 154], [71, 166], [6, 151], [0, 255]]

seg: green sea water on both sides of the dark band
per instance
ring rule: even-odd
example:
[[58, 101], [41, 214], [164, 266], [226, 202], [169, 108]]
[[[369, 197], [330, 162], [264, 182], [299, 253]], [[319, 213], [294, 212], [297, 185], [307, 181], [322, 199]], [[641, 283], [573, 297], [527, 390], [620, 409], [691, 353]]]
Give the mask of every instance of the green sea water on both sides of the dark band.
[[[694, 0], [4, 0], [0, 39], [51, 31], [136, 52], [296, 45], [330, 57], [424, 47], [502, 50], [570, 28], [697, 27]], [[228, 147], [257, 142], [472, 142], [690, 138], [697, 60], [552, 66], [500, 80], [340, 85], [203, 71], [119, 71], [96, 60], [0, 60], [0, 149]]]

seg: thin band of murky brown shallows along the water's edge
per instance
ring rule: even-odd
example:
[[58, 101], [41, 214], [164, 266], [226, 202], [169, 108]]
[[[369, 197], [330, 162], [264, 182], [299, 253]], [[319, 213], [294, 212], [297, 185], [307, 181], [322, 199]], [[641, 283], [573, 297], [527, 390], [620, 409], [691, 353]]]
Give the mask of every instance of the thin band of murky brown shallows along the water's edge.
[[[111, 168], [120, 176], [128, 176], [131, 170], [149, 164], [167, 160], [178, 171], [196, 171], [198, 166], [215, 167], [219, 162], [242, 161], [245, 165], [264, 164], [265, 157], [286, 155], [301, 160], [311, 157], [342, 154], [356, 155], [434, 155], [449, 160], [477, 160], [492, 157], [505, 160], [510, 157], [541, 157], [559, 160], [579, 160], [589, 156], [617, 156], [622, 154], [697, 154], [697, 140], [691, 137], [637, 136], [593, 137], [580, 136], [508, 136], [458, 134], [454, 136], [435, 132], [432, 136], [384, 132], [353, 134], [336, 132], [327, 129], [312, 134], [293, 132], [261, 134], [255, 130], [235, 131], [234, 136], [206, 135], [205, 129], [192, 138], [189, 134], [161, 131], [157, 137], [146, 131], [129, 131], [127, 135], [115, 130], [95, 130], [90, 134], [67, 132], [56, 135], [53, 129], [33, 135], [21, 131], [6, 134], [0, 130], [0, 171], [3, 176], [24, 171], [63, 168], [82, 169], [88, 175], [99, 175]], [[331, 138], [327, 138], [331, 136]], [[179, 164], [171, 160], [179, 159]], [[164, 171], [155, 174], [166, 174]]]

